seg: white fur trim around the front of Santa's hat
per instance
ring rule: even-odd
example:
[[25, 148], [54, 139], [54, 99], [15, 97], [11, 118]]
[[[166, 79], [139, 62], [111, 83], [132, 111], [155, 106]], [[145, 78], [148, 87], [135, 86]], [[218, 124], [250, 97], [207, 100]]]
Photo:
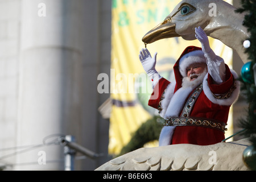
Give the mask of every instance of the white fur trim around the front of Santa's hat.
[[207, 63], [204, 57], [204, 52], [201, 50], [196, 50], [186, 53], [181, 57], [179, 61], [179, 71], [183, 77], [187, 77], [187, 68], [193, 63]]

